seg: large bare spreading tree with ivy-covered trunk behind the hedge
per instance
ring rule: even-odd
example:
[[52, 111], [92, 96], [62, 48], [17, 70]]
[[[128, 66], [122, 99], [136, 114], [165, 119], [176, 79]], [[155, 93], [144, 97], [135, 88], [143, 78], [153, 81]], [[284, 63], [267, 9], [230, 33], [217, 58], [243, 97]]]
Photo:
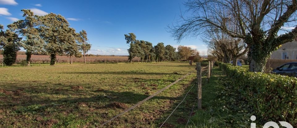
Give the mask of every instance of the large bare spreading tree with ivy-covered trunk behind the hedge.
[[297, 36], [297, 26], [285, 34], [280, 33], [283, 28], [296, 24], [296, 0], [189, 0], [185, 6], [191, 15], [181, 16], [177, 25], [168, 27], [177, 41], [196, 37], [209, 26], [243, 39], [249, 49], [249, 70], [253, 72], [261, 72], [271, 52]]

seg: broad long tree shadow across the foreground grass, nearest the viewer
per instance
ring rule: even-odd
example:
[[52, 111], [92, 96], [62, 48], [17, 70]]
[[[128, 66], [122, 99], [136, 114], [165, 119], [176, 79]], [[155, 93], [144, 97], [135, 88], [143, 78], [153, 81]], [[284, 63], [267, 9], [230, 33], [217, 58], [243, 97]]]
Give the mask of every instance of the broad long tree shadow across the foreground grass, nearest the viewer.
[[[121, 102], [125, 104], [134, 105], [139, 101], [142, 101], [149, 94], [135, 93], [131, 91], [116, 92], [110, 90], [97, 89], [89, 91], [86, 89], [57, 89], [57, 90], [46, 90], [38, 87], [23, 88], [15, 85], [8, 85], [11, 89], [0, 95], [2, 104], [0, 108], [11, 108], [17, 107], [27, 107], [30, 105], [43, 105], [51, 106], [55, 105], [70, 105], [73, 106], [78, 102], [100, 102], [101, 106], [96, 106], [96, 108], [102, 108], [105, 104], [111, 102]], [[3, 90], [3, 89], [2, 89]], [[1, 94], [1, 93], [0, 93]], [[41, 95], [40, 95], [41, 94]], [[88, 94], [91, 97], [86, 97]], [[51, 95], [52, 97], [44, 97], [45, 95]], [[61, 96], [63, 95], [63, 96]], [[68, 97], [67, 97], [68, 95]], [[58, 98], [67, 97], [67, 98]], [[75, 97], [69, 97], [75, 96]], [[77, 98], [79, 97], [79, 98]], [[153, 99], [171, 99], [172, 97], [155, 96]]]

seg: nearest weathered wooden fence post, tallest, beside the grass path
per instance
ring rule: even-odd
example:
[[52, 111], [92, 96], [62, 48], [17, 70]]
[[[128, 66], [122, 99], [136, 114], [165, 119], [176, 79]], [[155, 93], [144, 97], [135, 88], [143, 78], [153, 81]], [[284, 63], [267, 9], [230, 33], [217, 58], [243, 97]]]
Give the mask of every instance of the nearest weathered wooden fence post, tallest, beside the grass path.
[[202, 109], [202, 87], [201, 87], [201, 65], [196, 63], [197, 69], [197, 94], [198, 94], [198, 109]]

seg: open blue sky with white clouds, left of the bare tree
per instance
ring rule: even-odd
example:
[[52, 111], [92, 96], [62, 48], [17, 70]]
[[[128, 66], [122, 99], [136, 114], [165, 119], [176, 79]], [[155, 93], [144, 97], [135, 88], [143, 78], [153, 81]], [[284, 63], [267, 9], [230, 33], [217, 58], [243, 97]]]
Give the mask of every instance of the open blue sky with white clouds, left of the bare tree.
[[165, 29], [179, 18], [180, 10], [185, 10], [183, 0], [0, 0], [0, 24], [7, 26], [23, 19], [22, 9], [38, 15], [61, 14], [77, 32], [87, 31], [92, 44], [88, 53], [92, 54], [128, 55], [124, 34], [131, 32], [136, 39], [153, 45], [163, 42], [199, 51], [207, 49], [200, 37], [177, 44]]

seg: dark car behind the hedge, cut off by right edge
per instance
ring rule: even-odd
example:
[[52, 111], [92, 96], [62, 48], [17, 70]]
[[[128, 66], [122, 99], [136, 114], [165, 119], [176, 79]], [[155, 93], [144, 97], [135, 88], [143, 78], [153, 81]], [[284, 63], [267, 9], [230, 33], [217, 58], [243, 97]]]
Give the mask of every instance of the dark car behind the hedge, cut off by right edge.
[[273, 69], [272, 73], [297, 77], [297, 62], [283, 64], [282, 66]]

